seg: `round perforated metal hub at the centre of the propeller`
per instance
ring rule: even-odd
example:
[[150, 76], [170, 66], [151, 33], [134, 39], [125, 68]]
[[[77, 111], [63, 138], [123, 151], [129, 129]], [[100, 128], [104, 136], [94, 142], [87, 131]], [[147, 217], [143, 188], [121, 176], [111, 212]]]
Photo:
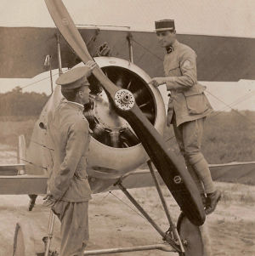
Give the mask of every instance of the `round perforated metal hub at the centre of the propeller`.
[[133, 94], [127, 89], [120, 89], [114, 96], [116, 106], [122, 111], [129, 111], [135, 103]]

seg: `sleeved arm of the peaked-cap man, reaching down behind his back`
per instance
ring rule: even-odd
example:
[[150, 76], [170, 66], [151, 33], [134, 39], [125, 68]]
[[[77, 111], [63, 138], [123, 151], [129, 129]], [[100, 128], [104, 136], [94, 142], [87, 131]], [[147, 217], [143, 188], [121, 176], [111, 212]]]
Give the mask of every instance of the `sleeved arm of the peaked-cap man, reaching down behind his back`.
[[68, 190], [87, 143], [88, 122], [81, 120], [73, 124], [68, 132], [65, 159], [54, 179], [54, 189], [50, 191], [57, 200]]

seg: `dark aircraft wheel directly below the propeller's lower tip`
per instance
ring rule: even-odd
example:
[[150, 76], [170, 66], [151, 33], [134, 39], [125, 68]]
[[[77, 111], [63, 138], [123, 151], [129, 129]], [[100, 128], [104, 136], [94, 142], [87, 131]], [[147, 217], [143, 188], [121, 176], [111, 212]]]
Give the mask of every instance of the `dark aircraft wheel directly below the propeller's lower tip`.
[[201, 230], [193, 225], [184, 213], [178, 217], [177, 230], [185, 250], [185, 254], [181, 253], [179, 256], [205, 256]]

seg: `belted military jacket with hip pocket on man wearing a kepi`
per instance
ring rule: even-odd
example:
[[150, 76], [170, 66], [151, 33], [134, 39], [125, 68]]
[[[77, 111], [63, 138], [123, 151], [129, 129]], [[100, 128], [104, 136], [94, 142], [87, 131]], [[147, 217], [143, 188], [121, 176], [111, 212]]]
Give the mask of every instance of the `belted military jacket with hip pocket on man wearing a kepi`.
[[[212, 112], [212, 106], [204, 94], [206, 87], [197, 82], [195, 51], [177, 40], [173, 51], [165, 55], [164, 71], [167, 90], [171, 91], [168, 104], [167, 125], [170, 125], [173, 110], [177, 126], [183, 122], [206, 117]], [[168, 87], [174, 87], [168, 89]]]

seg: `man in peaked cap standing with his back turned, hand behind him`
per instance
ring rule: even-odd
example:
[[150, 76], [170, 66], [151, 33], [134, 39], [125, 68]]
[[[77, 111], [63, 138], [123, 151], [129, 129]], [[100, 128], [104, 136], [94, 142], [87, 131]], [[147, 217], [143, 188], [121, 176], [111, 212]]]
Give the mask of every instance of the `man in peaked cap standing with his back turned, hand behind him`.
[[88, 243], [91, 190], [86, 168], [90, 135], [82, 111], [89, 100], [87, 77], [95, 66], [90, 60], [57, 79], [65, 100], [48, 120], [54, 143], [54, 167], [48, 179], [45, 204], [51, 206], [61, 222], [59, 256], [82, 256]]

